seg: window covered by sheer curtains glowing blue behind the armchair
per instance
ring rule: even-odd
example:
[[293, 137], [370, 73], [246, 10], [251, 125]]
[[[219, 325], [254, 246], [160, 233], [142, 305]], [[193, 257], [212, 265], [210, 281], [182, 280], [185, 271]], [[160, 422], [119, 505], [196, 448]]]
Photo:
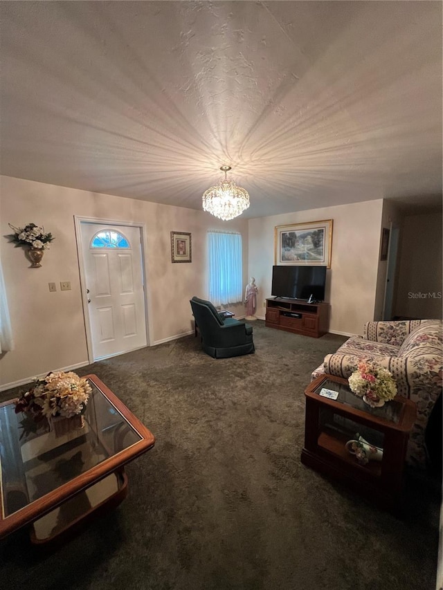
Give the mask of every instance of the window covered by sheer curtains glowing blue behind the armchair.
[[241, 234], [208, 232], [209, 299], [214, 305], [243, 299]]

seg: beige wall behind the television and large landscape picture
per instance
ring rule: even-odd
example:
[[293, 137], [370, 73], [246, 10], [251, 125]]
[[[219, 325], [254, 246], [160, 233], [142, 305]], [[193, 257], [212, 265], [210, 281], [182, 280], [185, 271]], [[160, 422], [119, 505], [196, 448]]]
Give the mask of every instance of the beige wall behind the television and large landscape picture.
[[249, 273], [260, 289], [257, 317], [271, 297], [275, 225], [332, 219], [332, 263], [325, 298], [331, 304], [329, 331], [361, 334], [374, 317], [383, 201], [365, 201], [249, 221]]

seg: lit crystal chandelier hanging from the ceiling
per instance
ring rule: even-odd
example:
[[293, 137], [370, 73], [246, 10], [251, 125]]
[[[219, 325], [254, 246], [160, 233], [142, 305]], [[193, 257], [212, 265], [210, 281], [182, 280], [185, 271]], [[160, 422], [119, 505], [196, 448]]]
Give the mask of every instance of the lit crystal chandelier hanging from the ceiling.
[[223, 221], [234, 219], [249, 207], [248, 192], [226, 178], [226, 172], [230, 169], [230, 166], [221, 166], [220, 170], [224, 172], [224, 179], [208, 188], [203, 194], [204, 211]]

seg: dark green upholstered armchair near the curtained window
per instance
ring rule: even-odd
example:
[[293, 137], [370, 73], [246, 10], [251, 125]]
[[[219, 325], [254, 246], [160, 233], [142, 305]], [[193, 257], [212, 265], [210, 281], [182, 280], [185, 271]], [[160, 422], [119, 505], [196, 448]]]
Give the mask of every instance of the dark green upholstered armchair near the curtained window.
[[209, 356], [229, 358], [255, 351], [252, 326], [233, 317], [223, 317], [205, 299], [192, 297], [190, 304], [201, 333], [201, 347]]

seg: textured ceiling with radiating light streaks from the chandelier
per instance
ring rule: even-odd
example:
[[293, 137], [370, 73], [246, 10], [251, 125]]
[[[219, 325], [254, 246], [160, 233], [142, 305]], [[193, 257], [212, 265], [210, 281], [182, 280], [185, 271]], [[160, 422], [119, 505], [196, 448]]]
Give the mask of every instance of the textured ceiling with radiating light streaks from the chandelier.
[[442, 201], [440, 1], [1, 1], [1, 174], [244, 217]]

